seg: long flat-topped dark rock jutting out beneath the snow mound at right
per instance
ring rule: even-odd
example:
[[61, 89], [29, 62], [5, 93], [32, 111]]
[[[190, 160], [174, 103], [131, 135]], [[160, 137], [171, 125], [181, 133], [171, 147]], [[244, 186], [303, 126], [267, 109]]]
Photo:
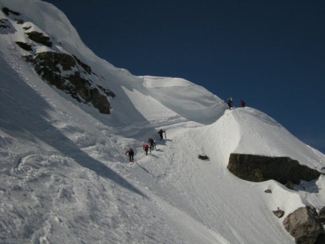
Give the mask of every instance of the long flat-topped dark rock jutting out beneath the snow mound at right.
[[320, 172], [289, 157], [266, 157], [248, 154], [230, 154], [228, 170], [237, 177], [251, 182], [275, 180], [282, 184], [291, 181], [299, 184], [301, 180], [311, 181]]

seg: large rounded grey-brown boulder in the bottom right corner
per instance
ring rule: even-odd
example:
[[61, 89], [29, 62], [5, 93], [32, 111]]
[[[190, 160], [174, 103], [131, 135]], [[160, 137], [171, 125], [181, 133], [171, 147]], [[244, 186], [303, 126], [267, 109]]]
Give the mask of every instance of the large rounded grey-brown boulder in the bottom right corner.
[[314, 244], [324, 231], [321, 221], [309, 206], [289, 214], [283, 224], [297, 244]]

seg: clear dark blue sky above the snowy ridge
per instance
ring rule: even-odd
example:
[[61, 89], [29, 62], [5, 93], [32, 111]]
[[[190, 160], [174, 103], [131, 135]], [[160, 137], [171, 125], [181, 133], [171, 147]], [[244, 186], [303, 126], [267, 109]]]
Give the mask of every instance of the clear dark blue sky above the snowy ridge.
[[324, 0], [45, 0], [102, 59], [257, 108], [325, 153]]

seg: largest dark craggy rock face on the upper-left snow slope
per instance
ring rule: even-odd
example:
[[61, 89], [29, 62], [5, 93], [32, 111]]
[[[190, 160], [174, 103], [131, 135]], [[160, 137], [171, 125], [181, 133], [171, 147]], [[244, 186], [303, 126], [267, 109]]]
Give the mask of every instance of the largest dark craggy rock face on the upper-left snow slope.
[[[110, 114], [111, 106], [106, 96], [114, 98], [115, 94], [111, 90], [97, 85], [105, 91], [105, 96], [97, 88], [94, 88], [92, 81], [81, 77], [81, 72], [91, 73], [91, 68], [88, 65], [76, 60], [73, 56], [56, 52], [29, 55], [25, 56], [25, 59], [34, 64], [35, 71], [50, 85], [71, 94], [78, 102], [91, 102], [101, 113]], [[61, 75], [62, 71], [72, 70], [73, 68], [78, 71], [66, 76]]]

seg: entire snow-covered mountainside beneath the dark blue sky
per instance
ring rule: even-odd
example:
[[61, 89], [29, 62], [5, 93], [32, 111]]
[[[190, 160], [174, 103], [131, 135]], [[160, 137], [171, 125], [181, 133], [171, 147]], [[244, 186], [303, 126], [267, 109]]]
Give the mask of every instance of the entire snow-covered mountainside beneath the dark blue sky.
[[[82, 43], [52, 4], [0, 0], [4, 6], [21, 16], [0, 11], [10, 25], [0, 29], [1, 243], [293, 244], [284, 217], [307, 204], [325, 206], [324, 175], [289, 190], [275, 181], [246, 182], [226, 169], [236, 152], [288, 156], [324, 172], [324, 154], [263, 112], [227, 110], [183, 79], [115, 68]], [[91, 66], [97, 76], [89, 78], [117, 95], [110, 115], [41, 80], [15, 43], [31, 42], [24, 26], [54, 43], [34, 42], [34, 54], [73, 54]], [[159, 140], [160, 128], [167, 140]], [[148, 137], [157, 150], [145, 156]], [[135, 163], [124, 155], [130, 147]], [[278, 207], [281, 219], [272, 213]]]

